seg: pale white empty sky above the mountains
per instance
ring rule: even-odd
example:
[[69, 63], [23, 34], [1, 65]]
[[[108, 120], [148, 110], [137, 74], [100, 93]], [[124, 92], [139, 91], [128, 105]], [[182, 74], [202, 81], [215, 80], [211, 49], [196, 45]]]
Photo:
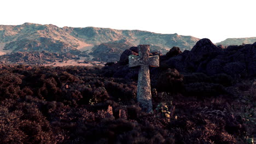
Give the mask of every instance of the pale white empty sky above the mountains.
[[256, 0], [1, 0], [0, 25], [139, 29], [209, 38], [256, 37]]

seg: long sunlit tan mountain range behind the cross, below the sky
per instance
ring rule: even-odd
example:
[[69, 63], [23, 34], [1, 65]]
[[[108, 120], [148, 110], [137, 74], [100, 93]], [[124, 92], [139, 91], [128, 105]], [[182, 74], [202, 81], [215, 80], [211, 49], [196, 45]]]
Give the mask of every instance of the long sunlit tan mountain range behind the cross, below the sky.
[[[60, 28], [34, 23], [18, 26], [0, 25], [0, 54], [17, 51], [48, 51], [71, 52], [78, 55], [83, 51], [83, 54], [89, 54], [91, 58], [101, 61], [106, 61], [106, 58], [111, 56], [114, 56], [111, 61], [118, 61], [121, 52], [129, 49], [130, 46], [150, 44], [153, 51], [166, 53], [173, 46], [178, 46], [181, 50], [190, 50], [198, 40], [191, 36], [138, 30], [96, 27]], [[101, 58], [102, 55], [99, 53], [104, 53], [106, 57]]]

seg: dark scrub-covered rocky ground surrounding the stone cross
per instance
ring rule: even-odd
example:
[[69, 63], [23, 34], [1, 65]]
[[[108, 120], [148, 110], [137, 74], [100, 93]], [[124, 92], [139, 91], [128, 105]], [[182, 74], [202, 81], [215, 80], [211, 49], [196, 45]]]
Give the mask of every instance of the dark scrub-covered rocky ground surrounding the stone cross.
[[201, 39], [191, 51], [151, 52], [160, 56], [150, 68], [153, 113], [136, 100], [134, 46], [103, 68], [2, 63], [0, 143], [253, 143], [255, 50]]

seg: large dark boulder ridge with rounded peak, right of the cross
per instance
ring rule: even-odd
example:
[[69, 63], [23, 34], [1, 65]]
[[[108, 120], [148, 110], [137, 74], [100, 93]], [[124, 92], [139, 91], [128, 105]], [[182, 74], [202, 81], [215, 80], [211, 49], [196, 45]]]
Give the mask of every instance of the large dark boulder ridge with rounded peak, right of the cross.
[[255, 44], [228, 46], [221, 49], [209, 39], [201, 39], [191, 51], [171, 57], [162, 63], [182, 73], [228, 74], [236, 77], [255, 76]]

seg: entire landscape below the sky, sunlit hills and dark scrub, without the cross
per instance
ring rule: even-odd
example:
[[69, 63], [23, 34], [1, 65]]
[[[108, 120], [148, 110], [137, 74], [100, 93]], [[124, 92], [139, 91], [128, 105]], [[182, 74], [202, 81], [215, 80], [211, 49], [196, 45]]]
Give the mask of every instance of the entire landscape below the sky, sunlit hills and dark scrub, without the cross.
[[[160, 56], [160, 67], [150, 67], [153, 113], [138, 106], [138, 67], [128, 67], [147, 43], [150, 56]], [[256, 42], [242, 43], [0, 26], [0, 50], [8, 52], [0, 56], [0, 143], [253, 143]], [[107, 63], [63, 64], [88, 64], [79, 57]]]

